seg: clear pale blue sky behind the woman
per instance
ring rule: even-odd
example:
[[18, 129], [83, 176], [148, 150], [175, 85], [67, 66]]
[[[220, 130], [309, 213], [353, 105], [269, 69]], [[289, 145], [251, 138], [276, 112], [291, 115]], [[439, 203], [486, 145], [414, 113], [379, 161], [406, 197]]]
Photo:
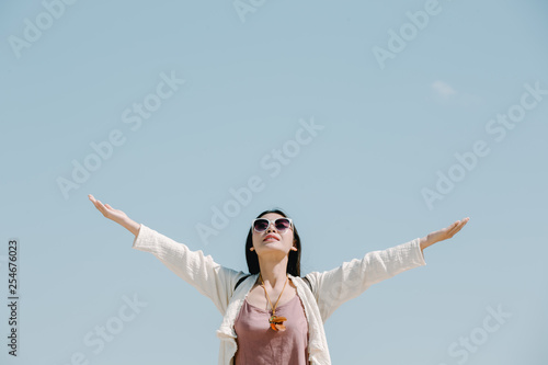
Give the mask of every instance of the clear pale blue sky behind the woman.
[[214, 305], [90, 193], [242, 271], [266, 208], [294, 218], [302, 274], [470, 217], [335, 311], [333, 363], [548, 361], [546, 2], [0, 7], [0, 293], [16, 239], [21, 298], [2, 364], [217, 362]]

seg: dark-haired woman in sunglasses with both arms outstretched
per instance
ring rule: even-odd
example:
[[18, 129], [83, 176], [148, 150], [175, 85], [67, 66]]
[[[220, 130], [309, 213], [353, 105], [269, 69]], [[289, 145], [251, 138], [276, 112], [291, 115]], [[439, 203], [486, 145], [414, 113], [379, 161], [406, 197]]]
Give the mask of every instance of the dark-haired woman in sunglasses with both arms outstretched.
[[151, 252], [214, 301], [224, 316], [217, 330], [219, 365], [331, 364], [323, 323], [333, 311], [370, 285], [425, 265], [423, 250], [452, 238], [469, 220], [300, 277], [300, 238], [282, 210], [265, 210], [253, 219], [246, 242], [250, 272], [246, 274], [137, 224], [92, 195], [89, 198], [103, 216], [134, 233], [134, 249]]

